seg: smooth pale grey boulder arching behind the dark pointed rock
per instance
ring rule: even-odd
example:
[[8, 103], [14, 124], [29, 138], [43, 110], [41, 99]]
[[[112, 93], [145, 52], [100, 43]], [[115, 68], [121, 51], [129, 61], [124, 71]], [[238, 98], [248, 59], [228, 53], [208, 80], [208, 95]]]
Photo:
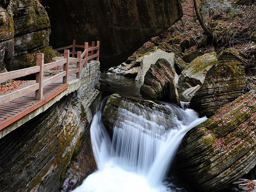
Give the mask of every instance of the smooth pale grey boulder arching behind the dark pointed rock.
[[[137, 59], [137, 62], [140, 62], [140, 68], [138, 70], [137, 77], [135, 78], [136, 81], [144, 82], [144, 76], [148, 69], [151, 67], [151, 64], [155, 64], [159, 58], [166, 59], [173, 69], [174, 67], [174, 58], [175, 54], [172, 52], [165, 52], [161, 49], [157, 49], [154, 52], [150, 52], [149, 54], [144, 55]], [[177, 74], [175, 75], [175, 79], [178, 79]]]

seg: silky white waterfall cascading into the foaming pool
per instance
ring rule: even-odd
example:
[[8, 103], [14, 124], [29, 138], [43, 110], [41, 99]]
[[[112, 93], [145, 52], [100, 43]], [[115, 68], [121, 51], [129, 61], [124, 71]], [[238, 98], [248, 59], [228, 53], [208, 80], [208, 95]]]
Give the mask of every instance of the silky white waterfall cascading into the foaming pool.
[[148, 115], [133, 113], [140, 110], [135, 105], [129, 111], [119, 108], [112, 141], [98, 111], [90, 131], [99, 170], [73, 192], [175, 192], [163, 184], [169, 166], [186, 132], [207, 118], [191, 109], [166, 107], [172, 123], [163, 122], [159, 111]]

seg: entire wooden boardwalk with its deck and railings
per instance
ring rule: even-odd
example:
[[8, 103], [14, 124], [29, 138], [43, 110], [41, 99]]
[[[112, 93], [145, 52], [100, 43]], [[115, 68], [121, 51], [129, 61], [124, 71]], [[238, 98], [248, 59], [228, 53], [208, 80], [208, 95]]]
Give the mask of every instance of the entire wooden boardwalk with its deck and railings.
[[[76, 51], [76, 48], [84, 51]], [[72, 52], [69, 49], [72, 49]], [[44, 54], [37, 53], [36, 66], [0, 73], [0, 83], [35, 74], [34, 81], [20, 84], [16, 90], [0, 94], [0, 138], [20, 126], [20, 124], [15, 125], [14, 122], [17, 120], [43, 105], [45, 108], [49, 103], [58, 101], [53, 98], [58, 98], [60, 93], [65, 92], [69, 87], [70, 75], [74, 74], [75, 79], [81, 79], [81, 68], [87, 66], [87, 61], [94, 59], [99, 61], [99, 41], [97, 44], [93, 41], [89, 46], [88, 42], [85, 42], [84, 45], [77, 45], [76, 40], [73, 40], [73, 45], [58, 48], [58, 51], [61, 50], [64, 52], [64, 58], [61, 60], [45, 64]], [[70, 54], [73, 57], [70, 57]], [[74, 58], [75, 55], [76, 58]], [[74, 65], [70, 67], [70, 64]], [[44, 72], [55, 67], [61, 68], [59, 73], [44, 78]], [[70, 78], [73, 79], [73, 77]], [[27, 118], [26, 121], [28, 120]]]

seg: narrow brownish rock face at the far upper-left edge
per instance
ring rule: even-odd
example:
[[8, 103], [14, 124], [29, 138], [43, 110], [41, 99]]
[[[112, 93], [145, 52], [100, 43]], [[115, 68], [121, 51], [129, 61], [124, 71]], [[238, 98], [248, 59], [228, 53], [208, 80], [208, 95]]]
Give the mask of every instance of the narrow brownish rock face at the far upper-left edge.
[[8, 4], [6, 1], [0, 2], [0, 73], [6, 72], [6, 66], [10, 65], [14, 52], [13, 20], [4, 8]]

